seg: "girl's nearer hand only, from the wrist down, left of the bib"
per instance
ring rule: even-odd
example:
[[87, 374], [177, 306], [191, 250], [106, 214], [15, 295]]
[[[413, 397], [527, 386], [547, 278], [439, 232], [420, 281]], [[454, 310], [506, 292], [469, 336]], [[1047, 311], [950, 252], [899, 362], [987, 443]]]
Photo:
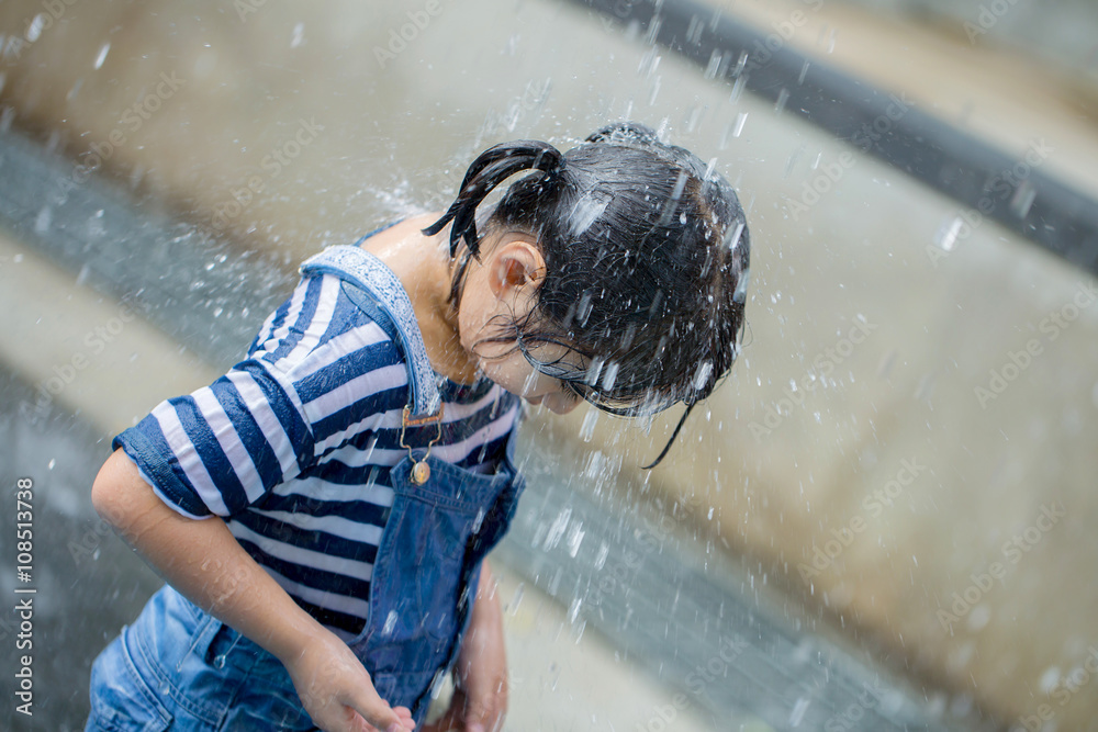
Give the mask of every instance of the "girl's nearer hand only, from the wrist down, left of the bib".
[[415, 729], [407, 707], [391, 708], [346, 643], [324, 631], [282, 663], [301, 703], [325, 732], [407, 732]]

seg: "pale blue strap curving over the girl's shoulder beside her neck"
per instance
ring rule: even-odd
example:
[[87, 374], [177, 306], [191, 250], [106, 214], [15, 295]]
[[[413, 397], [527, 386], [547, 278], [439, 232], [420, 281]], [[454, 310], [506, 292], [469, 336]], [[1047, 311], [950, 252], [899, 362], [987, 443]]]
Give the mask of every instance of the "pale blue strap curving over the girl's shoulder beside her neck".
[[[344, 281], [344, 292], [361, 307], [404, 351], [415, 418], [438, 414], [442, 398], [435, 383], [435, 371], [427, 359], [427, 348], [412, 309], [412, 301], [400, 279], [380, 259], [361, 247], [337, 245], [302, 262], [304, 274], [335, 274]], [[350, 285], [350, 286], [347, 286]]]

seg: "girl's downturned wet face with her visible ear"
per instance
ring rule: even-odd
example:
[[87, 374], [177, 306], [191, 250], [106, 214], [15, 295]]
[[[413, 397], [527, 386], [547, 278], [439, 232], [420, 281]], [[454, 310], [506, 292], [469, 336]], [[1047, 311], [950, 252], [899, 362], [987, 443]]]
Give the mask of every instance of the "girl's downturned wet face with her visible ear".
[[[484, 241], [482, 263], [470, 262], [461, 296], [458, 326], [461, 346], [471, 361], [504, 390], [556, 414], [568, 414], [583, 399], [559, 379], [548, 376], [509, 342], [484, 342], [500, 334], [500, 323], [520, 320], [534, 308], [545, 277], [545, 260], [537, 241], [523, 234], [504, 234]], [[536, 357], [546, 362], [569, 353], [562, 346], [539, 346]]]

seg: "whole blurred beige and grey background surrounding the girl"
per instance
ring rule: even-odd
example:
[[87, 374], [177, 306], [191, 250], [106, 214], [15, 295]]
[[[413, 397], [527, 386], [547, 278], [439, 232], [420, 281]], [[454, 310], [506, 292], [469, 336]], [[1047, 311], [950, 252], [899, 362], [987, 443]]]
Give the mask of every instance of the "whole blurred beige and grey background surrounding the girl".
[[0, 727], [82, 729], [159, 585], [91, 509], [113, 435], [312, 252], [628, 119], [740, 192], [750, 325], [653, 471], [677, 415], [525, 425], [506, 729], [1098, 729], [1095, 38], [1083, 0], [0, 2]]

